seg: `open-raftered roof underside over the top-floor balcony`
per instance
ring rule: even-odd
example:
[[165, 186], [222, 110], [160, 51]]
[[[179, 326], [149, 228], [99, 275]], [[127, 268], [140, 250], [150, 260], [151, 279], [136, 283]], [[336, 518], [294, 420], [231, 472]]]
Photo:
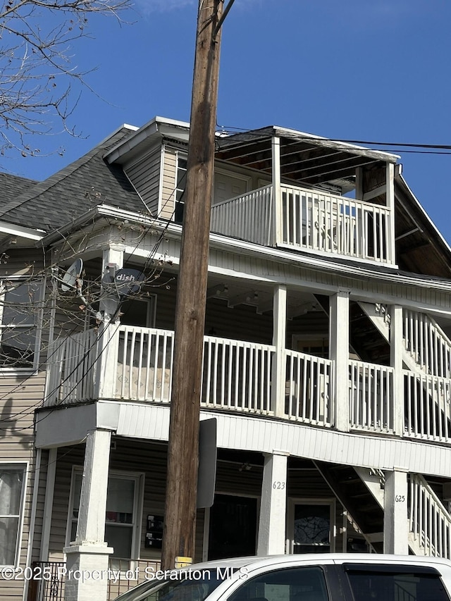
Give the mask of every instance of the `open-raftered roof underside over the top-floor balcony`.
[[264, 128], [216, 140], [216, 158], [242, 167], [254, 168], [271, 178], [271, 138], [280, 137], [280, 172], [283, 178], [300, 180], [309, 185], [347, 182], [354, 187], [357, 167], [382, 166], [396, 162], [391, 154], [334, 142], [302, 132], [280, 128]]

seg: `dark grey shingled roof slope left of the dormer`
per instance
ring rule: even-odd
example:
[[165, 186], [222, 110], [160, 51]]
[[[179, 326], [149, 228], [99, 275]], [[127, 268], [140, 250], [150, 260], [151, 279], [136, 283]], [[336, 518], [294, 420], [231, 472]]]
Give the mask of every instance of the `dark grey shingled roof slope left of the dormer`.
[[[123, 127], [77, 161], [51, 175], [44, 182], [31, 182], [0, 209], [0, 220], [51, 233], [70, 223], [97, 204], [109, 204], [128, 211], [143, 209], [140, 197], [118, 165], [103, 157], [114, 144], [130, 135]], [[11, 177], [11, 176], [9, 176]], [[30, 182], [30, 180], [28, 180]], [[13, 181], [10, 182], [13, 192]]]

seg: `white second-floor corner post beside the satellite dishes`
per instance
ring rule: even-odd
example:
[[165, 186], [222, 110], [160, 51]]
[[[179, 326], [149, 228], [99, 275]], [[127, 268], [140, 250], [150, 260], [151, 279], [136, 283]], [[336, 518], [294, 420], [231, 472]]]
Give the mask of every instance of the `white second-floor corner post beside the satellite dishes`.
[[[102, 274], [106, 273], [108, 265], [123, 267], [124, 249], [122, 246], [111, 244], [104, 250]], [[103, 322], [99, 326], [99, 342], [97, 344], [96, 390], [94, 394], [99, 399], [112, 399], [116, 394], [116, 368], [118, 362], [117, 335], [119, 321], [113, 319], [118, 308], [118, 299], [102, 290], [99, 309]]]

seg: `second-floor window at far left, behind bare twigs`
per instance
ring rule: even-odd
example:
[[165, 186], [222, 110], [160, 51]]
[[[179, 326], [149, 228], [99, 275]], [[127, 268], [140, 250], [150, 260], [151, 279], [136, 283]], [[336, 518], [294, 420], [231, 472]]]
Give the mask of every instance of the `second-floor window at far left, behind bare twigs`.
[[41, 282], [0, 281], [0, 368], [37, 368]]

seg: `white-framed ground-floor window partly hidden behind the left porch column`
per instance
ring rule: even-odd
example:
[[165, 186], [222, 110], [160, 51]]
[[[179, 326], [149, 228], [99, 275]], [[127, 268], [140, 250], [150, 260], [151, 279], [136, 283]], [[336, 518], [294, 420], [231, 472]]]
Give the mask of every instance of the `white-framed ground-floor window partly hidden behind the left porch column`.
[[[140, 554], [140, 523], [142, 514], [142, 484], [140, 473], [111, 472], [106, 492], [105, 540], [113, 547], [113, 558], [137, 559]], [[69, 512], [68, 538], [75, 540], [80, 514], [82, 471], [75, 469], [72, 478], [72, 499]], [[114, 562], [113, 562], [114, 563]], [[115, 567], [120, 567], [118, 564]]]

